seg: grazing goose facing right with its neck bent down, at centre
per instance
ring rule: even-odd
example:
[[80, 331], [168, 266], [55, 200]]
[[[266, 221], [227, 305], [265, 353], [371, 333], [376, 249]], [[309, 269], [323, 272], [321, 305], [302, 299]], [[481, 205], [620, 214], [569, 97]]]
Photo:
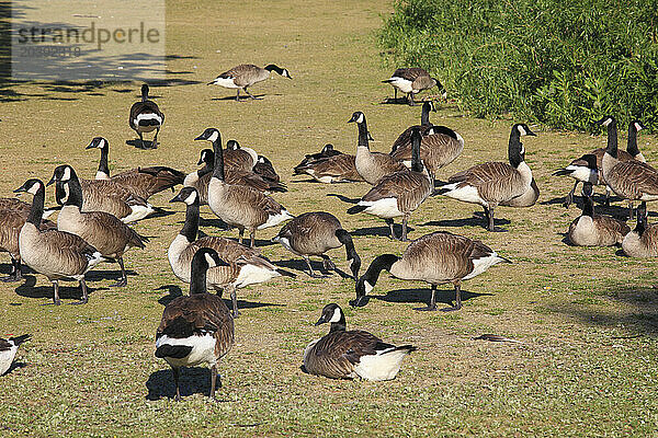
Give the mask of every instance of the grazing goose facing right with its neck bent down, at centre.
[[304, 257], [308, 266], [308, 275], [318, 278], [310, 266], [310, 255], [322, 257], [325, 270], [336, 269], [331, 258], [325, 254], [329, 250], [345, 245], [348, 261], [351, 261], [350, 269], [354, 280], [359, 278], [361, 257], [354, 250], [354, 242], [349, 232], [343, 230], [336, 216], [325, 211], [305, 212], [287, 222], [279, 234], [272, 239], [281, 243], [293, 254]]

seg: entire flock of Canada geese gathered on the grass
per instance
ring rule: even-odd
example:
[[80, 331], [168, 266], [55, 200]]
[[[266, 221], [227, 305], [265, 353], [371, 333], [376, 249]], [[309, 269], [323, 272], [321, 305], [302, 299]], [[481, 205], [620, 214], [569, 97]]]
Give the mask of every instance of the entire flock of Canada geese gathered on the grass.
[[[209, 84], [240, 90], [257, 99], [248, 88], [268, 79], [271, 72], [291, 78], [286, 69], [275, 65], [260, 68], [240, 65], [219, 74]], [[398, 69], [384, 81], [413, 95], [440, 82], [418, 68]], [[128, 124], [139, 136], [137, 146], [157, 148], [157, 136], [164, 122], [158, 105], [148, 99], [148, 85], [141, 88], [141, 101], [129, 112]], [[307, 154], [294, 168], [295, 175], [309, 175], [320, 183], [365, 182], [372, 187], [347, 210], [349, 215], [367, 214], [383, 219], [390, 230], [390, 239], [408, 241], [411, 215], [431, 196], [444, 196], [464, 203], [480, 205], [485, 227], [495, 227], [494, 215], [499, 206], [524, 208], [533, 206], [540, 191], [525, 163], [524, 136], [535, 136], [525, 124], [512, 126], [508, 143], [509, 162], [485, 162], [450, 176], [446, 182], [434, 178], [439, 170], [453, 162], [464, 150], [464, 138], [445, 126], [430, 122], [432, 102], [422, 104], [419, 125], [405, 129], [393, 142], [390, 153], [370, 150], [371, 136], [366, 116], [355, 112], [347, 122], [356, 127], [355, 154], [343, 153], [327, 145], [318, 153]], [[639, 122], [631, 123], [627, 152], [617, 150], [617, 127], [614, 117], [606, 116], [599, 124], [608, 129], [608, 146], [576, 160], [555, 175], [575, 180], [574, 189], [565, 205], [574, 200], [578, 183], [583, 184], [582, 214], [574, 220], [568, 237], [575, 245], [621, 244], [623, 251], [637, 257], [658, 255], [658, 227], [647, 224], [646, 201], [658, 199], [658, 171], [647, 164], [637, 148]], [[144, 140], [144, 134], [155, 131], [154, 139]], [[207, 128], [197, 141], [211, 147], [200, 154], [198, 170], [185, 174], [168, 166], [136, 168], [110, 175], [109, 142], [103, 137], [91, 140], [87, 149], [100, 150], [98, 172], [93, 180], [81, 178], [68, 165], [58, 165], [47, 183], [30, 178], [14, 192], [33, 195], [32, 204], [15, 198], [0, 199], [0, 250], [11, 257], [12, 272], [3, 281], [22, 278], [25, 264], [53, 284], [53, 303], [60, 304], [59, 280], [75, 279], [80, 284], [81, 300], [88, 302], [86, 273], [100, 262], [114, 261], [121, 267], [121, 278], [114, 286], [127, 285], [124, 255], [131, 247], [145, 249], [148, 239], [139, 235], [129, 224], [158, 210], [149, 203], [154, 194], [182, 189], [171, 203], [185, 204], [185, 220], [180, 232], [171, 237], [168, 260], [175, 277], [190, 284], [190, 295], [171, 301], [164, 309], [156, 335], [156, 356], [172, 368], [180, 400], [181, 367], [207, 362], [212, 367], [211, 397], [214, 397], [217, 362], [234, 344], [234, 320], [238, 318], [237, 289], [268, 281], [279, 276], [296, 275], [280, 268], [254, 247], [259, 230], [282, 227], [273, 241], [281, 243], [295, 256], [302, 257], [310, 277], [314, 272], [310, 257], [321, 257], [325, 270], [336, 269], [327, 255], [332, 249], [344, 246], [352, 277], [355, 299], [351, 306], [367, 303], [382, 270], [394, 277], [424, 281], [431, 286], [431, 300], [418, 310], [438, 310], [438, 285], [452, 284], [454, 306], [442, 311], [462, 308], [461, 284], [485, 273], [499, 263], [509, 263], [483, 242], [467, 237], [436, 231], [411, 241], [398, 254], [382, 254], [361, 273], [362, 260], [354, 240], [340, 220], [327, 211], [293, 215], [279, 204], [272, 194], [286, 192], [285, 184], [272, 162], [251, 148], [230, 140], [223, 145], [218, 129]], [[55, 198], [61, 207], [57, 221], [46, 218], [57, 208], [46, 209], [46, 186], [55, 185]], [[602, 185], [631, 203], [642, 204], [636, 210], [637, 227], [631, 231], [622, 220], [594, 212], [593, 185]], [[609, 197], [606, 198], [606, 203]], [[238, 240], [218, 235], [200, 235], [200, 208], [207, 205], [223, 222], [238, 230]], [[401, 232], [396, 233], [395, 220], [401, 220]], [[249, 241], [245, 237], [249, 233]], [[208, 293], [208, 288], [217, 293]], [[232, 309], [224, 303], [222, 293], [228, 290]], [[393, 379], [404, 357], [416, 347], [387, 344], [371, 333], [347, 331], [345, 316], [336, 303], [327, 304], [317, 324], [330, 324], [329, 333], [308, 345], [304, 366], [311, 374], [329, 378], [368, 380]], [[26, 341], [20, 336], [0, 341], [0, 373], [7, 371], [18, 345]]]

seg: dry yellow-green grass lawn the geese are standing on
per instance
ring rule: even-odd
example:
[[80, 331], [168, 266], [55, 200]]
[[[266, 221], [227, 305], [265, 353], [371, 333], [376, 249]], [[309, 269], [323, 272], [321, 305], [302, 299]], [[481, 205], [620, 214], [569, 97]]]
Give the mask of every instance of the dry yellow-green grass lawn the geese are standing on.
[[[389, 241], [383, 221], [348, 216], [350, 205], [329, 196], [356, 198], [366, 184], [330, 186], [291, 177], [304, 153], [326, 142], [353, 153], [356, 128], [347, 122], [354, 111], [366, 114], [376, 140], [372, 149], [379, 151], [388, 151], [396, 136], [419, 119], [420, 107], [379, 104], [392, 95], [379, 81], [395, 66], [382, 64], [374, 32], [390, 7], [382, 1], [170, 1], [171, 82], [151, 87], [167, 115], [160, 148], [125, 145], [134, 135], [127, 113], [139, 84], [5, 84], [0, 88], [0, 193], [11, 196], [29, 177], [48, 180], [65, 162], [92, 177], [98, 151], [84, 146], [99, 135], [111, 145], [113, 171], [164, 164], [190, 172], [207, 147], [193, 138], [217, 127], [225, 141], [235, 138], [273, 160], [290, 188], [275, 198], [291, 212], [330, 211], [355, 231], [364, 268], [378, 254], [401, 253], [406, 244]], [[263, 100], [239, 104], [229, 99], [232, 91], [205, 85], [240, 62], [275, 62], [294, 80], [275, 76], [251, 90]], [[462, 157], [438, 177], [473, 163], [507, 160], [509, 129], [517, 120], [473, 119], [449, 104], [431, 119], [466, 141]], [[0, 334], [33, 335], [19, 353], [18, 367], [1, 378], [0, 435], [657, 436], [656, 261], [563, 242], [579, 211], [559, 204], [571, 180], [551, 173], [601, 147], [605, 137], [533, 130], [538, 137], [524, 143], [542, 195], [530, 209], [497, 210], [508, 232], [488, 233], [481, 217], [474, 216], [479, 207], [440, 197], [411, 218], [411, 239], [451, 231], [480, 239], [514, 262], [467, 281], [460, 312], [413, 311], [429, 300], [427, 285], [387, 275], [367, 307], [352, 310], [353, 281], [338, 275], [310, 279], [300, 260], [269, 242], [277, 230], [259, 232], [262, 252], [298, 275], [238, 291], [236, 346], [219, 365], [222, 403], [206, 400], [205, 368], [183, 372], [184, 400], [174, 403], [171, 371], [154, 356], [163, 306], [188, 288], [166, 256], [183, 221], [183, 206], [168, 204], [171, 193], [151, 201], [175, 214], [135, 226], [151, 242], [127, 253], [128, 287], [109, 288], [118, 270], [101, 265], [88, 275], [89, 304], [56, 308], [41, 306], [52, 297], [44, 276], [0, 284]], [[648, 161], [657, 162], [657, 139], [640, 135], [639, 140]], [[48, 198], [52, 204], [52, 192]], [[623, 214], [625, 204], [614, 205], [608, 211]], [[202, 216], [214, 218], [207, 207]], [[235, 230], [203, 231], [237, 237]], [[331, 255], [348, 270], [342, 250]], [[2, 256], [1, 270], [9, 266]], [[63, 298], [78, 298], [77, 284], [66, 284]], [[451, 287], [440, 288], [441, 301], [453, 298]], [[334, 381], [302, 372], [304, 347], [327, 331], [313, 323], [329, 302], [343, 306], [349, 327], [419, 347], [397, 379]], [[472, 339], [484, 333], [522, 343]]]

